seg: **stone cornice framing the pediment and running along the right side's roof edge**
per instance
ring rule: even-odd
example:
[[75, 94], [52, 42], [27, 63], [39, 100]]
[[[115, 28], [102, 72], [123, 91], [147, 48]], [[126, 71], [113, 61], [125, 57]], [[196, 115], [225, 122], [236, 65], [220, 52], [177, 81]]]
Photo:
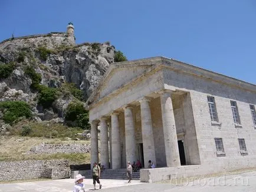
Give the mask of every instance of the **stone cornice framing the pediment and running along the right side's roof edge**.
[[[158, 62], [158, 64], [156, 64]], [[148, 64], [146, 64], [148, 63]], [[136, 65], [135, 65], [136, 64]], [[154, 65], [153, 65], [154, 64]], [[124, 84], [122, 87], [118, 88], [117, 90], [111, 92], [109, 95], [106, 95], [105, 97], [101, 98], [99, 101], [94, 102], [92, 105], [89, 105], [89, 109], [96, 107], [97, 105], [101, 104], [102, 102], [106, 102], [110, 100], [110, 98], [118, 95], [120, 92], [127, 90], [129, 87], [137, 84], [138, 82], [142, 81], [149, 75], [154, 74], [156, 71], [159, 71], [160, 69], [166, 68], [170, 69], [172, 71], [176, 71], [180, 74], [189, 74], [195, 77], [202, 78], [204, 80], [211, 80], [214, 82], [218, 82], [221, 84], [228, 85], [230, 87], [239, 88], [246, 91], [251, 91], [256, 93], [256, 85], [250, 84], [248, 82], [244, 82], [241, 80], [237, 80], [232, 77], [228, 77], [222, 74], [218, 74], [216, 72], [212, 72], [203, 68], [195, 67], [191, 64], [186, 64], [185, 62], [180, 62], [175, 59], [165, 58], [165, 57], [154, 57], [154, 58], [146, 58], [146, 59], [138, 59], [134, 61], [124, 61], [124, 62], [118, 62], [110, 65], [110, 68], [104, 75], [104, 77], [101, 79], [101, 82], [98, 86], [98, 88], [94, 91], [94, 94], [91, 95], [91, 97], [88, 99], [89, 102], [94, 100], [94, 97], [96, 97], [96, 93], [101, 90], [101, 86], [103, 85], [104, 81], [107, 78], [110, 78], [112, 75], [114, 75], [114, 69], [116, 68], [126, 68], [126, 67], [140, 67], [142, 65], [152, 65], [147, 69], [145, 74], [140, 75], [139, 77], [133, 78], [130, 80], [130, 82], [127, 82], [127, 84]], [[109, 76], [109, 77], [108, 77]], [[87, 102], [88, 102], [87, 101]]]

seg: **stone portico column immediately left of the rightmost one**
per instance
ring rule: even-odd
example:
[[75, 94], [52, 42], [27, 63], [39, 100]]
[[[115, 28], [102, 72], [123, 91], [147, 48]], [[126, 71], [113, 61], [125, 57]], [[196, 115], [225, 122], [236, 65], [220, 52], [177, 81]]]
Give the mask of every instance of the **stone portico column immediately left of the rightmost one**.
[[156, 165], [156, 153], [153, 136], [153, 126], [151, 119], [151, 112], [149, 107], [150, 100], [143, 98], [140, 102], [140, 111], [142, 118], [142, 141], [143, 141], [143, 155], [144, 165], [147, 168], [149, 160]]

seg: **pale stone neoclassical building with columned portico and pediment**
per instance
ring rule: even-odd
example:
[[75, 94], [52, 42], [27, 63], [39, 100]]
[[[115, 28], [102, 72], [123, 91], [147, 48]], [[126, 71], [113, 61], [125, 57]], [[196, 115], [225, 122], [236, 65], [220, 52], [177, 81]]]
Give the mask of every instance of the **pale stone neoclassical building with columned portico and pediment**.
[[100, 125], [100, 163], [116, 169], [152, 160], [159, 169], [141, 170], [142, 181], [170, 178], [169, 171], [190, 176], [256, 165], [253, 84], [146, 58], [110, 65], [88, 104], [92, 163], [99, 161]]

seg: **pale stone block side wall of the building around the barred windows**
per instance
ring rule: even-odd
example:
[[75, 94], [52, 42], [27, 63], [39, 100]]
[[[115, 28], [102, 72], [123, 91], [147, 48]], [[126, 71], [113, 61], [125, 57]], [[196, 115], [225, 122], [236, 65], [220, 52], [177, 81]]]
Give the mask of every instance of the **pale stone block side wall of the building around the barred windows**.
[[[223, 171], [256, 166], [256, 130], [250, 111], [250, 104], [256, 108], [255, 87], [253, 89], [252, 85], [242, 81], [234, 85], [227, 84], [224, 80], [216, 82], [195, 75], [180, 75], [168, 69], [163, 72], [163, 76], [166, 88], [190, 92], [192, 113], [189, 120], [192, 121], [193, 118], [196, 130], [191, 138], [196, 137], [198, 141], [200, 156], [198, 162], [201, 165], [207, 165], [208, 171], [215, 171], [216, 168]], [[228, 80], [233, 81], [232, 78]], [[245, 85], [239, 87], [242, 84]], [[246, 86], [251, 87], [251, 90], [248, 90]], [[211, 121], [207, 96], [215, 99], [218, 123]], [[241, 120], [239, 126], [234, 123], [232, 117], [231, 100], [237, 102]], [[225, 151], [222, 157], [216, 154], [214, 138], [222, 138]], [[247, 155], [241, 154], [238, 138], [244, 138]]]

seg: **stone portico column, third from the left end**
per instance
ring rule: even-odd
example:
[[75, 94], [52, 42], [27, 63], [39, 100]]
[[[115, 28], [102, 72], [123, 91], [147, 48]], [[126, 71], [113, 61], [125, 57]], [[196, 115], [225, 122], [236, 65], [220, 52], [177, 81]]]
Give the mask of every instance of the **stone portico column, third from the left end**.
[[118, 113], [111, 114], [112, 168], [122, 168]]

